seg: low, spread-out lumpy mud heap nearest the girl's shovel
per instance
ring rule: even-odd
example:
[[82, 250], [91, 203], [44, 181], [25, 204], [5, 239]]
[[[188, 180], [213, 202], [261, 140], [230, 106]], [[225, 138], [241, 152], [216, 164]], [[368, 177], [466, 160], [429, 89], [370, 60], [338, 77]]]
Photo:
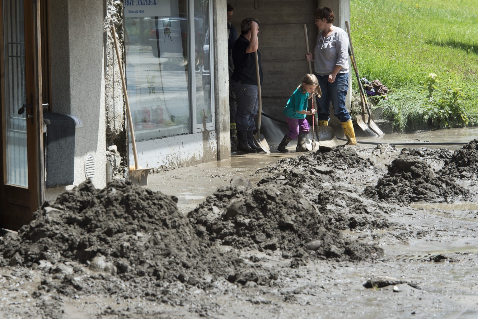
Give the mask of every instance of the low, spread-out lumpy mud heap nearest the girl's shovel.
[[[376, 149], [382, 153], [397, 152], [387, 145], [379, 145]], [[338, 146], [330, 152], [304, 153], [258, 170], [258, 173], [270, 174], [258, 185], [290, 185], [301, 189], [304, 197], [315, 204], [326, 224], [336, 229], [360, 231], [400, 227], [387, 219], [393, 208], [360, 197], [362, 189], [353, 187], [341, 175], [341, 172], [353, 175], [366, 171], [377, 172], [369, 158], [359, 156], [353, 149]]]

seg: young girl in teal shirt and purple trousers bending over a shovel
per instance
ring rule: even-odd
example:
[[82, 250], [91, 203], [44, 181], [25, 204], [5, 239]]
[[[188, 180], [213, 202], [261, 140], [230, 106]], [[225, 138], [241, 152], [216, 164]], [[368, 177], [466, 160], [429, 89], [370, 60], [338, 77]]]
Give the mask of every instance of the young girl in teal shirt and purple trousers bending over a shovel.
[[295, 152], [305, 152], [307, 147], [305, 146], [305, 139], [309, 132], [309, 123], [305, 120], [306, 115], [313, 115], [315, 109], [307, 110], [308, 100], [312, 98], [312, 93], [320, 96], [318, 91], [319, 82], [317, 77], [313, 74], [306, 74], [302, 79], [302, 84], [299, 85], [292, 93], [291, 97], [287, 101], [282, 114], [285, 116], [285, 120], [289, 125], [290, 132], [284, 135], [282, 142], [277, 147], [277, 150], [282, 153], [289, 152], [285, 146], [296, 137], [297, 147]]

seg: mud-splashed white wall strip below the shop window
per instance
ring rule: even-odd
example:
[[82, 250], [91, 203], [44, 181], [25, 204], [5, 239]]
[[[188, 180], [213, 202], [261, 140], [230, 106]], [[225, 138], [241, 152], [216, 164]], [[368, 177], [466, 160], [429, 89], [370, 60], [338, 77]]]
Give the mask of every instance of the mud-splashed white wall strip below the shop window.
[[[217, 131], [180, 135], [136, 143], [142, 168], [192, 166], [217, 160]], [[134, 165], [130, 143], [130, 165]]]

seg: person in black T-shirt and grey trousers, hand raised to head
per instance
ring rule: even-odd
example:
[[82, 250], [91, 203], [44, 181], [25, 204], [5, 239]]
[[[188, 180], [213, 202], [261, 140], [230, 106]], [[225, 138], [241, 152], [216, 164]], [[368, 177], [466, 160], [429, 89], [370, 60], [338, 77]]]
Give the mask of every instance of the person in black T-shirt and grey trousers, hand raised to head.
[[231, 84], [237, 99], [236, 127], [238, 130], [238, 150], [245, 153], [261, 152], [262, 148], [254, 140], [256, 129], [254, 116], [259, 110], [256, 57], [259, 60], [259, 77], [262, 84], [261, 54], [259, 53], [259, 20], [246, 18], [240, 25], [241, 35], [232, 48], [234, 71]]

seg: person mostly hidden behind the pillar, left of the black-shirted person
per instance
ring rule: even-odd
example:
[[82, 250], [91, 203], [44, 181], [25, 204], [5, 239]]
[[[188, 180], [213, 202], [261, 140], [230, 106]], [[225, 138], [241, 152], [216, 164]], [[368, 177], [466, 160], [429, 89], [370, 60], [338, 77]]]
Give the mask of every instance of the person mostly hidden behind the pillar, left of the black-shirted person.
[[232, 48], [234, 47], [234, 43], [238, 38], [238, 32], [236, 31], [236, 27], [232, 25], [231, 19], [232, 14], [234, 13], [234, 8], [227, 3], [227, 13], [228, 13], [228, 58], [229, 58], [229, 123], [230, 123], [230, 130], [231, 130], [231, 142], [237, 140], [237, 129], [236, 129], [236, 95], [232, 89], [231, 85], [231, 76], [232, 71], [234, 71], [234, 63], [232, 62]]

